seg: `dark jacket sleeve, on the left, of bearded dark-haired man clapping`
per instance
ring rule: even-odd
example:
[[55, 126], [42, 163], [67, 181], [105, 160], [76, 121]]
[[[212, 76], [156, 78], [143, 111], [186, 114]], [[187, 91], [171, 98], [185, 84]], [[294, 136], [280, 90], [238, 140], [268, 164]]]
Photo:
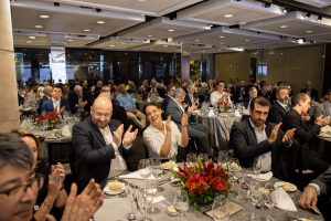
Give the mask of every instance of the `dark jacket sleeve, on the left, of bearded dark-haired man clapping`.
[[271, 150], [273, 145], [268, 140], [254, 143], [249, 140], [243, 124], [235, 123], [229, 134], [229, 145], [234, 149], [235, 156], [239, 161], [252, 160], [253, 158]]

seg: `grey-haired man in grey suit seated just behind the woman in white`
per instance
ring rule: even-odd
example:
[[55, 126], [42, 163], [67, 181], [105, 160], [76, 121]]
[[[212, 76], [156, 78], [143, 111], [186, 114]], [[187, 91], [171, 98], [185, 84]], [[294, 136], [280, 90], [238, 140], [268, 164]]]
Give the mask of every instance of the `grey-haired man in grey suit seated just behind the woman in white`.
[[[173, 99], [171, 99], [167, 107], [167, 115], [171, 116], [171, 119], [181, 128], [181, 120], [185, 109], [183, 107], [183, 102], [186, 93], [183, 88], [177, 88], [174, 91]], [[190, 117], [191, 113], [196, 109], [195, 104], [188, 107], [188, 116]], [[189, 138], [193, 138], [197, 141], [197, 147], [209, 157], [213, 157], [213, 151], [209, 143], [209, 128], [202, 124], [189, 125], [188, 126]]]

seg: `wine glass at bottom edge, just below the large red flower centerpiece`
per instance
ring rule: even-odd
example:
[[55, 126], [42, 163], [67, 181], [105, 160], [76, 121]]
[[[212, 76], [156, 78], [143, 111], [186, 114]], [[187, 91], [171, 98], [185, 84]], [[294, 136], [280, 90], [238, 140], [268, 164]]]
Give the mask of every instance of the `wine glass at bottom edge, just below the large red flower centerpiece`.
[[212, 213], [215, 221], [227, 221], [229, 218], [228, 199], [225, 194], [214, 198]]

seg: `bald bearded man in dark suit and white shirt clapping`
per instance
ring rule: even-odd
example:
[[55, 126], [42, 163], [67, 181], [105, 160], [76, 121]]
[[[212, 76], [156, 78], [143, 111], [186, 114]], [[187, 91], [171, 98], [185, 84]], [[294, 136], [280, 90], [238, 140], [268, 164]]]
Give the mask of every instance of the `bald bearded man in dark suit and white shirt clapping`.
[[72, 143], [79, 190], [92, 178], [105, 187], [108, 177], [127, 170], [125, 159], [131, 151], [138, 129], [131, 131], [130, 126], [124, 134], [124, 125], [110, 119], [111, 114], [109, 98], [99, 96], [90, 108], [90, 116], [73, 127]]

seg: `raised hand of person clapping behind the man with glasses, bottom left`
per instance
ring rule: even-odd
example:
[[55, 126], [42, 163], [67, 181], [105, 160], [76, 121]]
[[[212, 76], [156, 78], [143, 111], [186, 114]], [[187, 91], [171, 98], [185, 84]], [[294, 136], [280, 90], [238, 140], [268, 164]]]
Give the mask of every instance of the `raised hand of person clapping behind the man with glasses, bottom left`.
[[51, 175], [49, 176], [47, 191], [49, 194], [54, 197], [54, 199], [57, 197], [62, 188], [64, 178], [65, 172], [63, 165], [60, 162], [57, 162], [57, 165], [52, 165]]

